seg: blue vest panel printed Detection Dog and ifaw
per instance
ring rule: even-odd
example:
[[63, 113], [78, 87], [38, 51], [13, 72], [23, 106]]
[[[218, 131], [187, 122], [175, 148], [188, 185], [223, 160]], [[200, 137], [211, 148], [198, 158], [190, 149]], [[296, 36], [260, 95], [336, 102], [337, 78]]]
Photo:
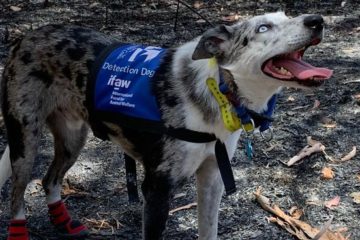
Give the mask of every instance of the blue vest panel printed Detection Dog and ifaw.
[[166, 49], [142, 45], [122, 45], [105, 58], [97, 74], [95, 110], [161, 121], [152, 78]]

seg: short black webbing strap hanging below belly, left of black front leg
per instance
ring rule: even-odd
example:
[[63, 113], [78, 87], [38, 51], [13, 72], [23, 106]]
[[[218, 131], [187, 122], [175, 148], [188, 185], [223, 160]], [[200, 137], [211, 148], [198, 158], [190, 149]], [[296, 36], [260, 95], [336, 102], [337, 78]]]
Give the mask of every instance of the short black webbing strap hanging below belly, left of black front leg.
[[128, 190], [129, 202], [139, 202], [137, 191], [136, 163], [129, 155], [124, 154], [126, 171], [126, 188]]

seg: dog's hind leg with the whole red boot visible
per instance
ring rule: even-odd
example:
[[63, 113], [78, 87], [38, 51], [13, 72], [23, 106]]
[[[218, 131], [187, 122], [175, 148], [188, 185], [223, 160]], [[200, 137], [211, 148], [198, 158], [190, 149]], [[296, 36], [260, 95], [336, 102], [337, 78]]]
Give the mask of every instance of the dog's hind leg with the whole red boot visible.
[[43, 180], [50, 219], [63, 237], [84, 237], [88, 235], [88, 229], [71, 218], [61, 200], [60, 191], [65, 173], [75, 163], [85, 144], [88, 126], [81, 118], [64, 109], [52, 113], [47, 124], [55, 144], [55, 157]]

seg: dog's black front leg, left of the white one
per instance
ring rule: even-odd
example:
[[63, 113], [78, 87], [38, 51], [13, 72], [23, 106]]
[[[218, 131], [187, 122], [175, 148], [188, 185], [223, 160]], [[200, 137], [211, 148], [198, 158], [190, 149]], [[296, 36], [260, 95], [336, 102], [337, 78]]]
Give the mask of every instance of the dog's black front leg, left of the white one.
[[172, 192], [170, 178], [165, 173], [146, 172], [141, 187], [144, 196], [143, 239], [163, 239]]

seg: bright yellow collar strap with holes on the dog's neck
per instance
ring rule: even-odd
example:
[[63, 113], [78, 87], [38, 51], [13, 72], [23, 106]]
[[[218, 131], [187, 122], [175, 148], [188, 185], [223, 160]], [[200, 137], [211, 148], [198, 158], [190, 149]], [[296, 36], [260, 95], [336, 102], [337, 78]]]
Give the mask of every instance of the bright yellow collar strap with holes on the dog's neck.
[[[242, 127], [240, 119], [236, 116], [236, 114], [233, 111], [231, 111], [230, 102], [226, 98], [226, 96], [220, 92], [220, 89], [219, 89], [219, 86], [218, 86], [218, 83], [216, 82], [216, 80], [214, 78], [208, 78], [206, 80], [206, 85], [208, 86], [211, 93], [214, 95], [217, 103], [219, 104], [221, 116], [222, 116], [222, 119], [223, 119], [226, 129], [231, 132], [234, 132], [234, 131], [240, 129]], [[249, 128], [248, 125], [249, 124], [243, 125], [244, 129], [246, 131], [253, 130], [252, 124], [250, 123], [251, 129]]]

